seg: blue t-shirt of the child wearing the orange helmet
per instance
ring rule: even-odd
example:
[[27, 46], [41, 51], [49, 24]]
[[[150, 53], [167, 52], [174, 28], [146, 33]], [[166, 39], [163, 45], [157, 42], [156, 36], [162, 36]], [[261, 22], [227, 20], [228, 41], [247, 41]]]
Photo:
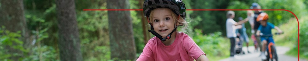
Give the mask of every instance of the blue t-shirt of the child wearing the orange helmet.
[[275, 28], [275, 25], [270, 22], [267, 22], [266, 24], [265, 27], [260, 25], [258, 30], [260, 30], [264, 35], [272, 35], [272, 29]]

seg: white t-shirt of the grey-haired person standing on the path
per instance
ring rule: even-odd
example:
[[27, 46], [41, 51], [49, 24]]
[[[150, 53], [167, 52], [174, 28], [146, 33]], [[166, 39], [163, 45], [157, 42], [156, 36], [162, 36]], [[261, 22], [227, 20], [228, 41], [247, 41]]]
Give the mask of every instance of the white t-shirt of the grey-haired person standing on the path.
[[227, 19], [226, 21], [227, 38], [236, 37], [235, 24], [236, 22], [233, 19], [230, 19], [230, 18]]

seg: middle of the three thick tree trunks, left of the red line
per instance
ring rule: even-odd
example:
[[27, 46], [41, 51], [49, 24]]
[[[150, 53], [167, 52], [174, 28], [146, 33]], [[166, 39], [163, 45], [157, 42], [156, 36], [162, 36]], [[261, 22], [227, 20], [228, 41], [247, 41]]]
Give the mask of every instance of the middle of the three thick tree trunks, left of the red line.
[[74, 0], [55, 0], [59, 27], [60, 60], [82, 61]]

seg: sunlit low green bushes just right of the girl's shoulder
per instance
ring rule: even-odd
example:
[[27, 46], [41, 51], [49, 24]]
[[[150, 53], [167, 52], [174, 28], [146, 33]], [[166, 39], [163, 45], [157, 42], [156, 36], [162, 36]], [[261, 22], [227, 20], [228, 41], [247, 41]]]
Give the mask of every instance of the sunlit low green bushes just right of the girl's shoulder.
[[230, 54], [229, 39], [221, 37], [221, 32], [203, 35], [201, 30], [195, 29], [195, 33], [193, 40], [205, 52], [209, 59], [220, 59]]

